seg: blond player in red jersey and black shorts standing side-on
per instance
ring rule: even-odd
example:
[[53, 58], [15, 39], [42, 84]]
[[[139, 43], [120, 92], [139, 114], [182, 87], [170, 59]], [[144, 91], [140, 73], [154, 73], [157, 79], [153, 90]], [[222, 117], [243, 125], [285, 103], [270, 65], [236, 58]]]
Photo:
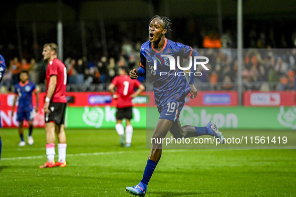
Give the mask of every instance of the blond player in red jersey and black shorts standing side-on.
[[[48, 60], [46, 70], [47, 96], [44, 103], [46, 154], [47, 162], [39, 167], [66, 166], [66, 134], [65, 134], [65, 110], [66, 110], [66, 85], [67, 69], [65, 64], [57, 58], [58, 45], [45, 44], [43, 47], [44, 60]], [[55, 132], [58, 136], [59, 160], [55, 163]]]

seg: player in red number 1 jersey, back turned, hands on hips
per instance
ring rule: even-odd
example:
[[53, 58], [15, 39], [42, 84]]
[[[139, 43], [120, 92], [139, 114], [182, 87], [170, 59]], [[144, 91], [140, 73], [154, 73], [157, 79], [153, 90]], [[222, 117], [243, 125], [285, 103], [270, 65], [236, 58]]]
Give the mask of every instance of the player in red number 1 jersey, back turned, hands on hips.
[[[132, 136], [133, 136], [133, 126], [131, 125], [131, 119], [133, 117], [132, 112], [132, 98], [136, 97], [141, 93], [145, 87], [138, 80], [132, 80], [128, 76], [129, 70], [127, 67], [119, 68], [118, 76], [115, 76], [109, 85], [109, 90], [114, 99], [117, 99], [117, 113], [116, 119], [117, 124], [115, 129], [120, 137], [120, 145], [126, 147], [131, 146]], [[114, 87], [117, 88], [117, 91], [114, 91]], [[134, 92], [135, 87], [138, 87], [137, 91]], [[125, 135], [126, 139], [124, 140], [124, 127], [122, 125], [122, 119], [125, 118]]]

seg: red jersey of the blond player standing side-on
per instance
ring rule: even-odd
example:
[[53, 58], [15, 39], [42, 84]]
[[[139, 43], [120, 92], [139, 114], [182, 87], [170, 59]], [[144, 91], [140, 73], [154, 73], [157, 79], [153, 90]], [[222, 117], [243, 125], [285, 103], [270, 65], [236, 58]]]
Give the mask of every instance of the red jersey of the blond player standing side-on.
[[51, 102], [67, 102], [66, 99], [66, 86], [67, 86], [67, 68], [65, 64], [58, 58], [51, 60], [48, 63], [46, 70], [46, 93], [50, 83], [50, 77], [52, 75], [57, 76], [57, 86], [54, 95], [51, 98]]

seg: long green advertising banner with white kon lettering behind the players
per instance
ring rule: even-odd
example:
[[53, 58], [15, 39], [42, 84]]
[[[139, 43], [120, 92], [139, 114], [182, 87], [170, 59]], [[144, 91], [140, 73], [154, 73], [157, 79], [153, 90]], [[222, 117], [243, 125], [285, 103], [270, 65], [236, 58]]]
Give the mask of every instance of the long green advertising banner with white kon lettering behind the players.
[[[133, 107], [134, 128], [154, 128], [157, 107]], [[182, 125], [205, 126], [210, 120], [219, 128], [296, 129], [296, 107], [190, 107], [180, 113]], [[116, 107], [67, 107], [68, 128], [113, 128]]]

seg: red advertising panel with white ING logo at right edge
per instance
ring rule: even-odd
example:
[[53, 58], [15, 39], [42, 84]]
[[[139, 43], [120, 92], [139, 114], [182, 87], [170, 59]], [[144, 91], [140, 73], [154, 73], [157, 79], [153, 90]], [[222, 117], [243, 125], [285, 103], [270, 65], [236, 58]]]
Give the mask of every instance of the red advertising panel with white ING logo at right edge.
[[295, 105], [296, 91], [244, 91], [245, 106], [291, 106]]

